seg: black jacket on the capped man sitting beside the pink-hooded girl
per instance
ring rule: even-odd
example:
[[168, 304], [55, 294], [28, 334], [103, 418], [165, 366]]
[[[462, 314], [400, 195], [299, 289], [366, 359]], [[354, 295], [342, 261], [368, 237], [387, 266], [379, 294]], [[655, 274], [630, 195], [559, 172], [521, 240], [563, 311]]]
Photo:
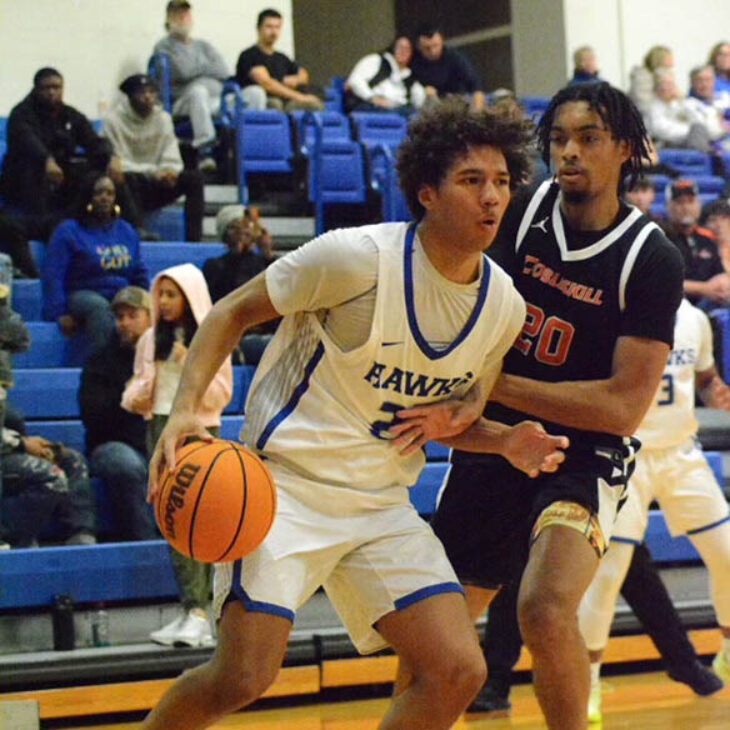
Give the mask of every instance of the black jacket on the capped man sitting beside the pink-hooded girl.
[[134, 348], [122, 346], [116, 332], [86, 361], [81, 372], [79, 402], [87, 454], [108, 441], [122, 441], [142, 454], [147, 452], [144, 419], [120, 405], [133, 370]]

